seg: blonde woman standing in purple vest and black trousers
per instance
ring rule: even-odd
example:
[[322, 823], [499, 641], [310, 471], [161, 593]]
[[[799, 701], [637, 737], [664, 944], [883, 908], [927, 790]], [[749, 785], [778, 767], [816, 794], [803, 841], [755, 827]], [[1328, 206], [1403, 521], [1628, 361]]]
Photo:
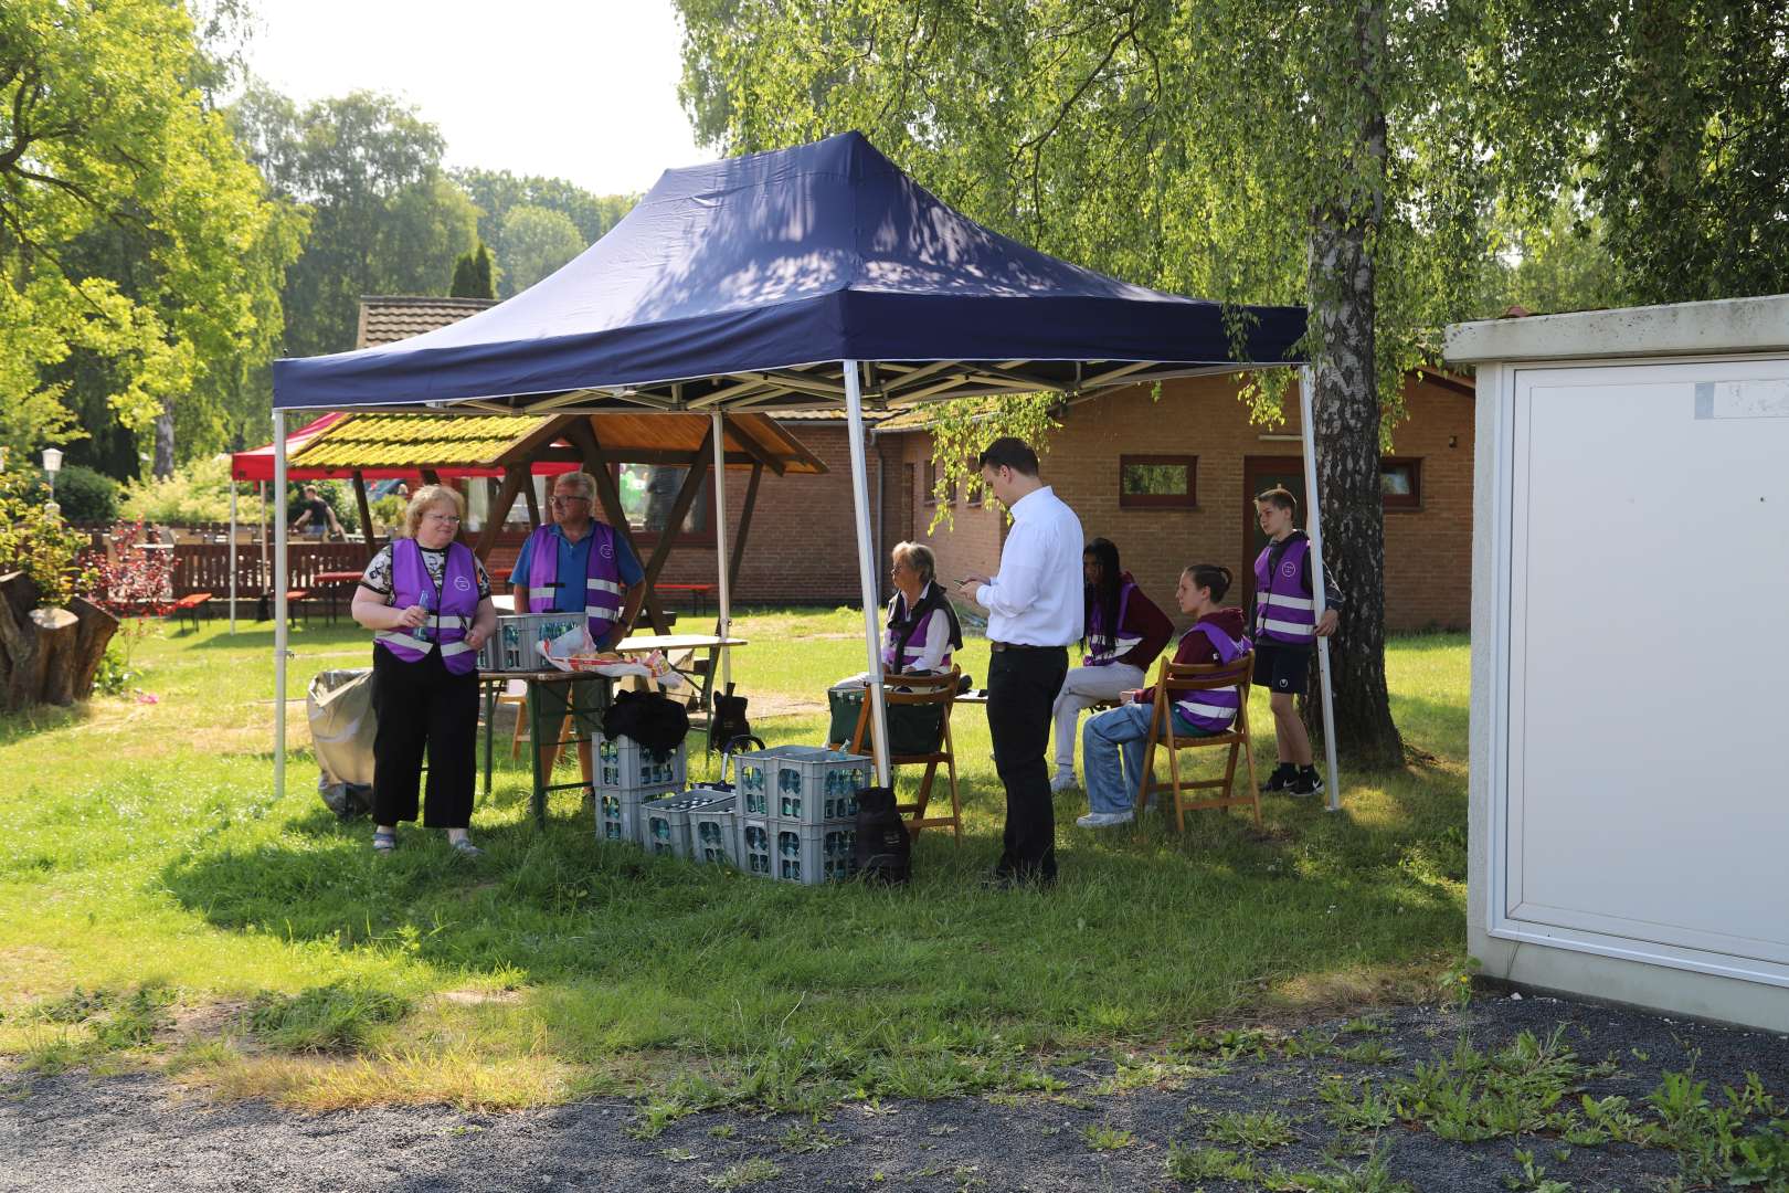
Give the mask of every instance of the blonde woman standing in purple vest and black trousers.
[[417, 819], [422, 755], [429, 758], [424, 828], [445, 828], [467, 857], [478, 751], [478, 647], [497, 628], [490, 576], [458, 540], [465, 503], [444, 485], [417, 490], [404, 538], [367, 563], [352, 613], [372, 630], [372, 848], [397, 846], [397, 821]]

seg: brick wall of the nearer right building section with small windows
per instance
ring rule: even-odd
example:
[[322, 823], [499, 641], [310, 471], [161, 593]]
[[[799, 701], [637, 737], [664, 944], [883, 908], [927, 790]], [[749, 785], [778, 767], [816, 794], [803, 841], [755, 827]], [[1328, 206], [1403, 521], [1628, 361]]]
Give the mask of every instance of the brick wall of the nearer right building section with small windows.
[[[1242, 572], [1252, 563], [1252, 494], [1256, 460], [1279, 458], [1297, 470], [1297, 422], [1261, 427], [1236, 401], [1231, 377], [1186, 377], [1161, 386], [1136, 386], [1081, 401], [1063, 415], [1063, 427], [1043, 454], [1043, 478], [1075, 513], [1090, 538], [1106, 537], [1143, 590], [1170, 617], [1174, 587], [1188, 563], [1222, 563], [1238, 572], [1229, 601], [1242, 601]], [[1386, 626], [1420, 630], [1465, 626], [1471, 610], [1472, 553], [1472, 399], [1428, 377], [1404, 393], [1410, 419], [1394, 433], [1392, 460], [1419, 469], [1420, 504], [1388, 510]], [[1274, 436], [1274, 438], [1263, 438]], [[1292, 440], [1285, 436], [1293, 436]], [[925, 433], [882, 435], [884, 451], [921, 478], [930, 453]], [[902, 442], [902, 447], [894, 447]], [[1191, 508], [1123, 508], [1118, 467], [1123, 454], [1193, 456]], [[1249, 481], [1249, 483], [1245, 483]], [[1002, 519], [993, 508], [971, 508], [959, 499], [954, 528], [925, 533], [928, 494], [912, 499], [921, 542], [939, 556], [946, 578], [993, 572], [1000, 560]], [[1247, 519], [1247, 520], [1245, 520]], [[1184, 619], [1177, 619], [1184, 621]]]

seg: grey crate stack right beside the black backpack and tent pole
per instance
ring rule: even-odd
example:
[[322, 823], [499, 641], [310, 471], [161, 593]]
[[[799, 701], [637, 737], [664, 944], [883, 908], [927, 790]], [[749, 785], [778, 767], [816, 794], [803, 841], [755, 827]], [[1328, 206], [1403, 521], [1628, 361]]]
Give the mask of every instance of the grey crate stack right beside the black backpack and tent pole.
[[819, 746], [741, 755], [739, 867], [803, 885], [850, 878], [869, 774], [869, 758]]

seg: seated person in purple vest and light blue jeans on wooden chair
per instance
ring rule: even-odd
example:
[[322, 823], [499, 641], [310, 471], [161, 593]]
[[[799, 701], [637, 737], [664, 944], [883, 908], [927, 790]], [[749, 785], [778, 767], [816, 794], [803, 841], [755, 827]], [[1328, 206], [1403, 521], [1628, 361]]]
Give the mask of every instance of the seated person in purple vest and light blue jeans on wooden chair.
[[[1229, 592], [1231, 572], [1217, 563], [1193, 563], [1181, 572], [1174, 590], [1193, 628], [1181, 635], [1174, 662], [1227, 664], [1252, 647], [1243, 637], [1242, 610], [1218, 606]], [[1093, 810], [1077, 819], [1082, 828], [1109, 828], [1134, 819], [1136, 789], [1143, 776], [1143, 742], [1154, 715], [1154, 689], [1125, 692], [1132, 701], [1091, 717], [1081, 730], [1081, 762], [1088, 769], [1088, 801]], [[1183, 737], [1222, 733], [1236, 721], [1234, 690], [1186, 692], [1174, 701], [1174, 732]]]

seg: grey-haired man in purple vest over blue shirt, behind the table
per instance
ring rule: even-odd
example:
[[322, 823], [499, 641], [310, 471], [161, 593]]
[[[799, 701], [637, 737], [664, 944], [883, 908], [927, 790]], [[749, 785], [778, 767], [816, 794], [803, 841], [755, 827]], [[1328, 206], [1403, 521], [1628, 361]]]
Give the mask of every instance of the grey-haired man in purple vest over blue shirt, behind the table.
[[[628, 637], [640, 612], [646, 572], [614, 526], [590, 517], [596, 478], [565, 472], [553, 478], [553, 519], [522, 544], [510, 572], [517, 613], [576, 613], [589, 617], [590, 642], [603, 651]], [[544, 774], [553, 773], [558, 746], [540, 746]], [[590, 782], [590, 742], [578, 742], [583, 782]]]

